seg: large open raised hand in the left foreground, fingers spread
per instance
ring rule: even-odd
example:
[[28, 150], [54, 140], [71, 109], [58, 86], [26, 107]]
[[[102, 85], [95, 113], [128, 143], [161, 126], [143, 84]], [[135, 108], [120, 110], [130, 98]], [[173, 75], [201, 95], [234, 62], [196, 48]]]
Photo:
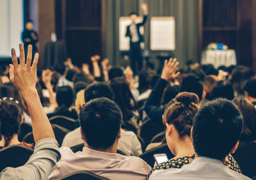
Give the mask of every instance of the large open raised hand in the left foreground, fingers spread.
[[36, 68], [39, 59], [39, 54], [35, 54], [33, 59], [33, 65], [31, 66], [32, 61], [32, 45], [28, 45], [28, 55], [27, 62], [25, 63], [25, 52], [23, 44], [19, 44], [19, 63], [16, 57], [16, 51], [12, 48], [12, 60], [13, 65], [10, 64], [10, 80], [13, 82], [13, 85], [24, 96], [29, 91], [36, 91]]

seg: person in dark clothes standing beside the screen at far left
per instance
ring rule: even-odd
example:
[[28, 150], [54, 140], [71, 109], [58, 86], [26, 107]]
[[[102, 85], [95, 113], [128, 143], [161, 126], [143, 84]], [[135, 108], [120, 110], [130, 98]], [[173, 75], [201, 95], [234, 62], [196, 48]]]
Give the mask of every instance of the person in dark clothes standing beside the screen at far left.
[[33, 56], [37, 52], [36, 42], [38, 42], [38, 35], [35, 30], [33, 30], [33, 21], [28, 20], [25, 24], [25, 30], [22, 32], [22, 41], [24, 44], [25, 54], [28, 52], [28, 45], [33, 46]]

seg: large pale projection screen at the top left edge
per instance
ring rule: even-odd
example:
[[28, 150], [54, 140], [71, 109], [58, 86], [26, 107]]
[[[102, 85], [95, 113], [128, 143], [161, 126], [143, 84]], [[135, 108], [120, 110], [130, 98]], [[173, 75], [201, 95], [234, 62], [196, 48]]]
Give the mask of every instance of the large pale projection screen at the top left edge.
[[0, 57], [10, 57], [10, 49], [18, 50], [23, 30], [23, 1], [0, 0]]

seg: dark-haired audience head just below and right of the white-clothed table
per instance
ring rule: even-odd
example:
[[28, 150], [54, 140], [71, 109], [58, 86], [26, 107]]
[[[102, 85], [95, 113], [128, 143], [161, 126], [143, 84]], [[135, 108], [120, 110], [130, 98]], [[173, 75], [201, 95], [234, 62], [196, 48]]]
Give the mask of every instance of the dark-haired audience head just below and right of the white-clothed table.
[[253, 76], [253, 71], [251, 68], [248, 68], [243, 65], [238, 65], [231, 74], [231, 83], [233, 85], [234, 91], [237, 94], [244, 94], [243, 87], [246, 83], [246, 80], [249, 80]]

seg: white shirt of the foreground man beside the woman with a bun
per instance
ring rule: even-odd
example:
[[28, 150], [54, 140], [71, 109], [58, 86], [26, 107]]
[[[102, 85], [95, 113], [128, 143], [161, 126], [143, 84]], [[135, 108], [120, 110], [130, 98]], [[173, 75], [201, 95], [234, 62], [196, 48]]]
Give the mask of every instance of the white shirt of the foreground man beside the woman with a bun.
[[197, 157], [191, 164], [184, 165], [180, 169], [156, 170], [150, 176], [150, 180], [202, 180], [202, 179], [249, 179], [243, 174], [237, 173], [226, 167], [222, 161], [213, 158]]

